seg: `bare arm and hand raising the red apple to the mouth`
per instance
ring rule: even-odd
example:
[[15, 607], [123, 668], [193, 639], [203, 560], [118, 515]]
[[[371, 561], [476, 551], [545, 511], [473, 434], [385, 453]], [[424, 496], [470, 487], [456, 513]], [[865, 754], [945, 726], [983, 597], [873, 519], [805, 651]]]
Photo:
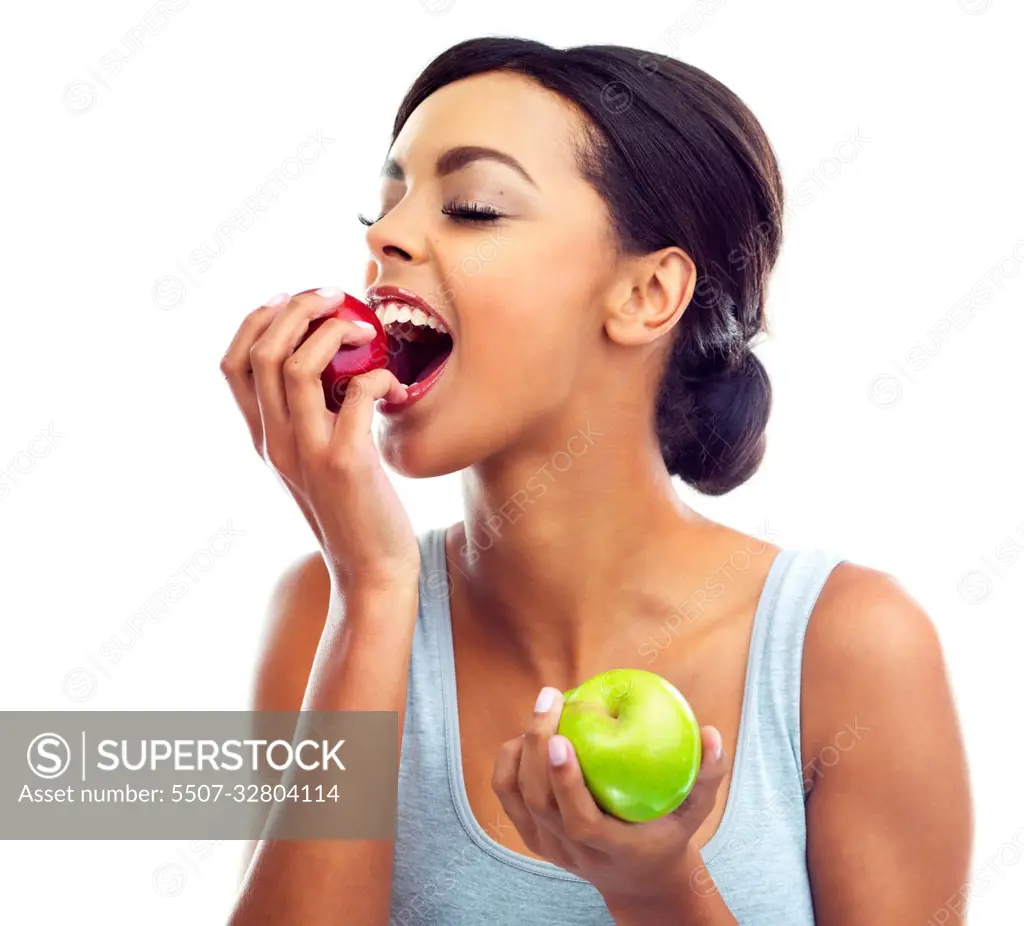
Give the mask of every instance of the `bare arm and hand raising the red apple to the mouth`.
[[[372, 337], [353, 320], [327, 318], [344, 298], [340, 290], [307, 290], [261, 305], [220, 363], [253, 447], [309, 520], [329, 576], [326, 609], [322, 592], [311, 593], [315, 606], [302, 603], [309, 577], [286, 578], [274, 595], [261, 685], [278, 670], [286, 680], [280, 689], [273, 680], [261, 692], [258, 685], [258, 699], [294, 703], [310, 628], [323, 621], [299, 710], [394, 711], [400, 748], [420, 551], [371, 425], [378, 399], [400, 401], [408, 390], [390, 371], [371, 370], [348, 381], [337, 413], [327, 409], [324, 369], [343, 344]], [[310, 332], [314, 319], [321, 324]], [[292, 640], [293, 625], [300, 640]], [[392, 853], [390, 840], [260, 840], [229, 926], [385, 926]]]

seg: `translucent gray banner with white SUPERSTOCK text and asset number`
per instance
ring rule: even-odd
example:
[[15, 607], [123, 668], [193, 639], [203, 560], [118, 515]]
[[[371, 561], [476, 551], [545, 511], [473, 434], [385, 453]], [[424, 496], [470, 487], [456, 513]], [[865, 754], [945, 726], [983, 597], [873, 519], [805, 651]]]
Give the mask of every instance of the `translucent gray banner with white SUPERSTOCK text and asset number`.
[[395, 711], [3, 711], [0, 839], [393, 839]]

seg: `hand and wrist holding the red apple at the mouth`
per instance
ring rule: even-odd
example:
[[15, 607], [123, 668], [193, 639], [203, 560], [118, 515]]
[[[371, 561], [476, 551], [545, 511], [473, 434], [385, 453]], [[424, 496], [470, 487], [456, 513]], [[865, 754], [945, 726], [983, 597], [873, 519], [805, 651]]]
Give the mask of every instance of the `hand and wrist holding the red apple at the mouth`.
[[220, 370], [257, 453], [283, 478], [347, 592], [415, 581], [420, 550], [370, 428], [375, 402], [400, 401], [406, 387], [388, 370], [373, 370], [349, 381], [337, 415], [324, 397], [321, 374], [339, 347], [366, 343], [373, 331], [328, 319], [299, 346], [309, 323], [342, 298], [316, 291], [260, 306], [242, 323]]

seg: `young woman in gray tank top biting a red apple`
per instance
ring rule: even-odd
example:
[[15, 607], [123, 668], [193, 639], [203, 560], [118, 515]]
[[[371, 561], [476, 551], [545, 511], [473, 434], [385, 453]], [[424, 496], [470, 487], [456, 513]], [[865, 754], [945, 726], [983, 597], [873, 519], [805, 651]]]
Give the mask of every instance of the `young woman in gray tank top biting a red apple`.
[[[971, 807], [930, 619], [673, 488], [762, 459], [783, 190], [757, 120], [677, 60], [492, 38], [426, 69], [391, 142], [367, 299], [426, 312], [403, 382], [328, 411], [321, 371], [368, 337], [299, 346], [330, 291], [257, 308], [222, 370], [319, 547], [273, 596], [255, 707], [396, 711], [397, 835], [260, 842], [232, 926], [959, 922]], [[382, 459], [461, 471], [463, 520], [415, 534]], [[693, 792], [645, 824], [602, 813], [555, 735], [561, 691], [628, 667], [702, 724]]]

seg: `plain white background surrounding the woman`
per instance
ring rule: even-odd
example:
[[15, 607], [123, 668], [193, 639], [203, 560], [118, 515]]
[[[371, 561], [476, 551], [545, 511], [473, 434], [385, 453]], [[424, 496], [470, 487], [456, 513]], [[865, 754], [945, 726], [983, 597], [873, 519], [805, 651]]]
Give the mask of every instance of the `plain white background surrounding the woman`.
[[[972, 922], [1017, 921], [1021, 4], [16, 10], [0, 33], [3, 709], [248, 707], [267, 592], [313, 540], [221, 379], [237, 326], [281, 290], [359, 291], [355, 213], [376, 207], [394, 110], [437, 52], [487, 34], [632, 45], [735, 90], [790, 193], [760, 348], [776, 396], [767, 459], [726, 498], [680, 491], [741, 530], [885, 570], [926, 606], [971, 756], [973, 870], [987, 871]], [[317, 136], [297, 171], [289, 159]], [[276, 201], [225, 243], [268, 181]], [[217, 256], [198, 272], [202, 249]], [[460, 518], [458, 475], [395, 483], [417, 530]], [[133, 635], [129, 619], [190, 561], [188, 594]], [[100, 651], [112, 638], [116, 663]], [[219, 924], [239, 850], [3, 842], [0, 919]]]

